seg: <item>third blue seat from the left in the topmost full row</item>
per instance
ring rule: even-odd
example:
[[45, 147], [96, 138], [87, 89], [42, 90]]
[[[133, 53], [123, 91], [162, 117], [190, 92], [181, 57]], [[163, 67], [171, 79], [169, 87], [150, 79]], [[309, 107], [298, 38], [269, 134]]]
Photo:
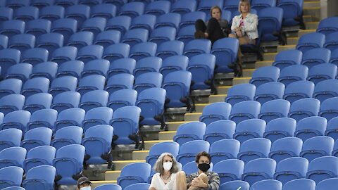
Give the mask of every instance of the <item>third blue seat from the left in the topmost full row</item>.
[[64, 15], [65, 8], [63, 8], [63, 6], [51, 5], [39, 9], [39, 18], [46, 19], [51, 22], [63, 18]]

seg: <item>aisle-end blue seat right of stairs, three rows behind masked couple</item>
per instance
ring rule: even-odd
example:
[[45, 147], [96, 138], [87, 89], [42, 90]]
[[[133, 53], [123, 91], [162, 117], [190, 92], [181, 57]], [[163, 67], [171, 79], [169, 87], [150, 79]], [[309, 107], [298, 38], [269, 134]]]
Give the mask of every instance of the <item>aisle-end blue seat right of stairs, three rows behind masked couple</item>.
[[211, 122], [215, 122], [218, 120], [227, 120], [229, 118], [230, 111], [230, 103], [211, 103], [203, 108], [203, 112], [201, 117], [199, 117], [199, 121], [206, 123], [206, 125], [209, 125]]

